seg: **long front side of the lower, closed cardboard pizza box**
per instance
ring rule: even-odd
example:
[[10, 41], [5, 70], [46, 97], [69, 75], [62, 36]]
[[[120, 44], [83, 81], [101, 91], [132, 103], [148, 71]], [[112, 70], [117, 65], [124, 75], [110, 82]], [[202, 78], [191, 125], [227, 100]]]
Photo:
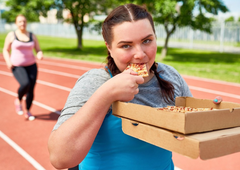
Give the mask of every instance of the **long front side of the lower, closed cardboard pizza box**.
[[125, 134], [138, 138], [161, 148], [174, 151], [193, 159], [199, 157], [199, 142], [185, 137], [176, 139], [179, 134], [137, 121], [122, 119], [122, 130]]

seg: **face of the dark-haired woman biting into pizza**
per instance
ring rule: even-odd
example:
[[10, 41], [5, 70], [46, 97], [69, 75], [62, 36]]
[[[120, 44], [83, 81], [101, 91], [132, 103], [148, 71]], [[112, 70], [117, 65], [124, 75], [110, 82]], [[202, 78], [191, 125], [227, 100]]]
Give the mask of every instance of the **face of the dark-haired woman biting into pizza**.
[[112, 29], [112, 44], [106, 45], [118, 69], [124, 71], [129, 63], [145, 63], [150, 73], [157, 43], [149, 20], [123, 22]]

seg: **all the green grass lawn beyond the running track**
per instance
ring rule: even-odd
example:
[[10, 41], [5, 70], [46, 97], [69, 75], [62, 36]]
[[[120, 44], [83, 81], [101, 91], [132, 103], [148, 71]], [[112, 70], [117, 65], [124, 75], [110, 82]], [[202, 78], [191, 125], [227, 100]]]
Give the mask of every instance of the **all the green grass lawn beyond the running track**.
[[[0, 46], [3, 46], [5, 36], [6, 34], [0, 34]], [[103, 41], [84, 40], [84, 48], [79, 50], [76, 48], [76, 39], [38, 36], [38, 40], [47, 57], [102, 63], [107, 56]], [[159, 47], [156, 56], [158, 62], [160, 52]], [[181, 74], [240, 83], [240, 54], [169, 48], [168, 55], [162, 62], [173, 66]]]

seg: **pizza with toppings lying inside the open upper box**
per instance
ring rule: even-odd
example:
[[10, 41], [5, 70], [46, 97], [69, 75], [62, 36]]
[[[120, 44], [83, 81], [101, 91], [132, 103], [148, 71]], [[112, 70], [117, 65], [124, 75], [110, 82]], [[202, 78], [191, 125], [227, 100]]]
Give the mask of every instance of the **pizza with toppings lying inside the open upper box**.
[[199, 112], [199, 111], [209, 111], [215, 110], [213, 108], [192, 108], [192, 107], [183, 107], [183, 106], [167, 106], [163, 108], [158, 108], [158, 110], [169, 111], [169, 112]]

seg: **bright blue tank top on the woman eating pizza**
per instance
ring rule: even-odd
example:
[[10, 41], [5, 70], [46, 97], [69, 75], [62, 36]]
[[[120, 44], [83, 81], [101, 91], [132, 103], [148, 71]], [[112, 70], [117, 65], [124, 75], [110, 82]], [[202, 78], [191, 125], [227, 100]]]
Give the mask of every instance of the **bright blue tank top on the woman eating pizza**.
[[122, 121], [110, 111], [79, 164], [80, 170], [174, 170], [172, 152], [122, 132]]

